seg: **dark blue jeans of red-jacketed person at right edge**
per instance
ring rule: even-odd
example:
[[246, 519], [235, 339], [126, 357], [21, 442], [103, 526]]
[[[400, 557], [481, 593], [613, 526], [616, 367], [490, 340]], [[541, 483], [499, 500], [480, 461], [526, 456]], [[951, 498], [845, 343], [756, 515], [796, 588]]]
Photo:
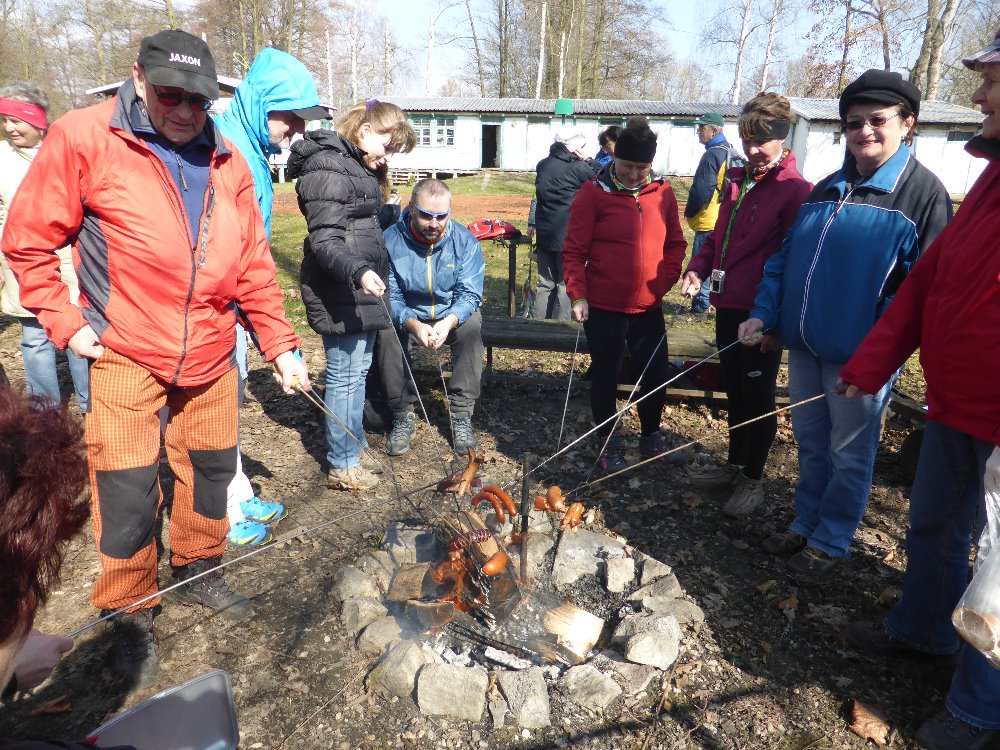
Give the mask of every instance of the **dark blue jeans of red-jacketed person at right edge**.
[[[962, 644], [951, 613], [969, 583], [972, 527], [992, 452], [992, 443], [940, 422], [924, 428], [910, 494], [903, 595], [885, 618], [889, 633], [920, 651], [950, 654]], [[973, 726], [1000, 729], [1000, 669], [963, 645], [946, 705]]]

